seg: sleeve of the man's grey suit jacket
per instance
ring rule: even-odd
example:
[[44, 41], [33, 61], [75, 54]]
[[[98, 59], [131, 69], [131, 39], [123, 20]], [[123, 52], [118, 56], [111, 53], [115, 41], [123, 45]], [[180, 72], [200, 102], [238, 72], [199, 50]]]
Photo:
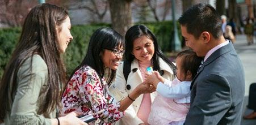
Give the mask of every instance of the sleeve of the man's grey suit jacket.
[[[192, 91], [195, 91], [192, 93]], [[191, 102], [185, 124], [218, 124], [231, 106], [230, 85], [220, 75], [205, 75], [197, 80], [191, 90]]]

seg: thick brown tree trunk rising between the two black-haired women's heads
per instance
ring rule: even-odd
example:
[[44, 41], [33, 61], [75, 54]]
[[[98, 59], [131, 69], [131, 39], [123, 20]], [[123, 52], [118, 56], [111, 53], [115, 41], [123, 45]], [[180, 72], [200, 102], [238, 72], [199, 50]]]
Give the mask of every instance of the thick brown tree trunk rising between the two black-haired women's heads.
[[108, 0], [110, 4], [110, 14], [112, 27], [125, 36], [126, 31], [132, 25], [132, 0]]

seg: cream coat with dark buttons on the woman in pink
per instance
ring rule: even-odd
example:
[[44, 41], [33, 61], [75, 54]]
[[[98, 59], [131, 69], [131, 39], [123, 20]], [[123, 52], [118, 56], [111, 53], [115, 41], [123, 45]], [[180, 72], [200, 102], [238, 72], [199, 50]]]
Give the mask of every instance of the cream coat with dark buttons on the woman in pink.
[[[161, 58], [160, 61], [160, 69], [164, 71], [163, 77], [167, 80], [173, 80], [174, 75], [173, 71], [171, 70], [170, 66], [164, 62]], [[110, 87], [110, 92], [115, 93], [112, 94], [114, 98], [116, 98], [117, 101], [120, 101], [124, 97], [126, 97], [129, 93], [132, 92], [133, 89], [137, 87], [140, 83], [143, 82], [141, 72], [139, 70], [139, 62], [137, 59], [134, 59], [131, 64], [131, 72], [128, 75], [127, 82], [124, 79], [123, 74], [123, 66], [124, 64], [121, 63], [116, 71], [116, 78], [114, 81], [114, 84]], [[136, 72], [133, 72], [132, 70], [137, 68]], [[129, 87], [127, 87], [127, 85]], [[130, 89], [129, 89], [130, 88]], [[114, 90], [115, 89], [115, 90]], [[113, 92], [113, 91], [119, 91], [119, 92]], [[151, 101], [154, 101], [154, 98], [156, 97], [157, 92], [150, 93]], [[119, 120], [119, 123], [116, 124], [125, 124], [125, 125], [136, 125], [143, 123], [140, 118], [137, 117], [137, 112], [139, 110], [141, 101], [142, 101], [143, 94], [141, 94], [136, 100], [128, 107], [127, 110], [125, 110], [124, 117]]]

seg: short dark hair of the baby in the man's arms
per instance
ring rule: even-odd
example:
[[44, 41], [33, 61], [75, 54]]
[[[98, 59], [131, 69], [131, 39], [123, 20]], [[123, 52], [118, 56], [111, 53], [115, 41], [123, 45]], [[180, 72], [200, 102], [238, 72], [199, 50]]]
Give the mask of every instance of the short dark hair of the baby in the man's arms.
[[178, 53], [177, 58], [181, 57], [181, 71], [182, 74], [187, 76], [187, 71], [191, 72], [192, 79], [198, 72], [198, 68], [203, 60], [202, 57], [198, 57], [192, 49], [187, 49]]

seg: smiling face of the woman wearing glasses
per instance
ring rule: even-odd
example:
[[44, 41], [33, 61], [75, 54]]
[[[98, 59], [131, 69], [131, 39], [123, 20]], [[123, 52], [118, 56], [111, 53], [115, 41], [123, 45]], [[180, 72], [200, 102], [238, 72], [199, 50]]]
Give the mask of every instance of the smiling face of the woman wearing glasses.
[[[119, 46], [114, 50], [123, 51], [123, 46]], [[112, 50], [104, 49], [103, 51], [102, 61], [104, 63], [104, 66], [109, 67], [112, 70], [117, 69], [117, 67], [119, 66], [119, 62], [121, 61], [122, 58], [123, 58], [123, 53], [115, 55], [114, 51]]]

